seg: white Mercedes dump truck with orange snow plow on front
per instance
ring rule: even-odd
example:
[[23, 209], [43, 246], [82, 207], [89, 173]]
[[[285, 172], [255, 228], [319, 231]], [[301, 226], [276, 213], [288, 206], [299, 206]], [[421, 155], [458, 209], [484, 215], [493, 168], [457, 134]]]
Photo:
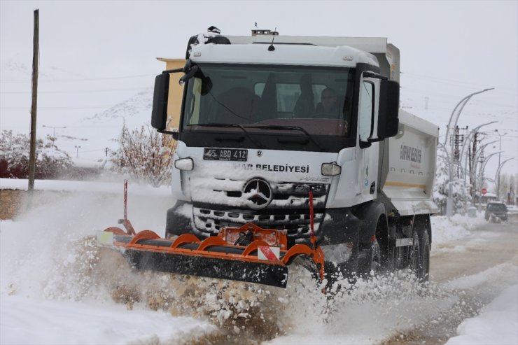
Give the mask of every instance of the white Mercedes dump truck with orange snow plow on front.
[[438, 127], [402, 111], [399, 88], [386, 38], [191, 37], [185, 66], [155, 79], [152, 125], [177, 140], [166, 238], [114, 241], [138, 268], [271, 286], [295, 257], [328, 281], [426, 281]]

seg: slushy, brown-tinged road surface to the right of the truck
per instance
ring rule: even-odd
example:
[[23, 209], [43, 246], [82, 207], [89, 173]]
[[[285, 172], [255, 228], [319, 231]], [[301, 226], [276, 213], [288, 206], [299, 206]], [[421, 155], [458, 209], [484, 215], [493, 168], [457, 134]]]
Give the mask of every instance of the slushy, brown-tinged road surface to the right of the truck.
[[431, 254], [430, 281], [451, 290], [460, 302], [426, 327], [405, 332], [403, 338], [393, 337], [384, 345], [444, 344], [456, 335], [461, 321], [476, 316], [505, 288], [517, 284], [517, 227], [517, 223], [482, 223], [470, 231], [470, 236], [437, 246]]

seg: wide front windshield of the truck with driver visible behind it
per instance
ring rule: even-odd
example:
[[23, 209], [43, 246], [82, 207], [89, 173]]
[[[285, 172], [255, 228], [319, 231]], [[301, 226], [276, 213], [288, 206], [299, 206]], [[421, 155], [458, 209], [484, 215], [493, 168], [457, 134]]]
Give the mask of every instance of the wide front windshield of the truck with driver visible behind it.
[[[184, 131], [207, 131], [203, 125], [221, 123], [239, 124], [249, 132], [297, 126], [302, 134], [307, 132], [304, 135], [349, 134], [354, 69], [243, 64], [199, 67], [188, 80]], [[216, 128], [239, 131], [230, 126]]]

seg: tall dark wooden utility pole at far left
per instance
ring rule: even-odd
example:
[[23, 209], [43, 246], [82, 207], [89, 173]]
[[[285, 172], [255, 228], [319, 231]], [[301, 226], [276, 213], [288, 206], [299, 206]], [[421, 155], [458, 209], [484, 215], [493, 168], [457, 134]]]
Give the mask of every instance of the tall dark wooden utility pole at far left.
[[29, 194], [34, 190], [36, 174], [36, 108], [38, 106], [39, 10], [34, 10], [34, 40], [32, 52], [31, 147], [29, 153]]

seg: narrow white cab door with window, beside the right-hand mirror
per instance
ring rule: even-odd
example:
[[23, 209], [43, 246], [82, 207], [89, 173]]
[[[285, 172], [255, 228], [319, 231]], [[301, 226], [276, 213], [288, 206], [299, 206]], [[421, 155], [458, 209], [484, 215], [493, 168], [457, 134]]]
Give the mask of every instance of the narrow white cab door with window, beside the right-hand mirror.
[[379, 80], [363, 78], [358, 104], [358, 184], [356, 195], [360, 202], [376, 197], [378, 143], [368, 143], [377, 127], [377, 90]]

